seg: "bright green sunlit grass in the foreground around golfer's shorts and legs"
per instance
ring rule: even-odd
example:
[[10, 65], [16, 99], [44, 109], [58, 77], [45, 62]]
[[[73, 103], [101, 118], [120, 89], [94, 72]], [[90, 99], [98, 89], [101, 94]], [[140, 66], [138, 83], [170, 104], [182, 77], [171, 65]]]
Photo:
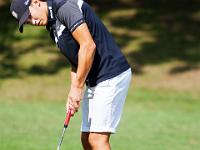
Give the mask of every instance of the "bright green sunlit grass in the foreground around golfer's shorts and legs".
[[[198, 150], [198, 97], [174, 92], [130, 89], [115, 150]], [[160, 94], [156, 95], [155, 92]], [[64, 101], [0, 101], [0, 149], [56, 149], [64, 119]], [[81, 149], [81, 111], [72, 118], [63, 149]], [[172, 147], [173, 146], [173, 147]]]

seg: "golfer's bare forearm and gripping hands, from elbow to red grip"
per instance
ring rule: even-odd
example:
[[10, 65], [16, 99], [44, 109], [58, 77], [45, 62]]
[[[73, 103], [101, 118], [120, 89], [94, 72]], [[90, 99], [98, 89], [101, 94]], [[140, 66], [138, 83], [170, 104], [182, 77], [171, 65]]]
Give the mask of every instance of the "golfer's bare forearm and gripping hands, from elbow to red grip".
[[68, 95], [66, 109], [68, 111], [71, 108], [73, 110], [72, 114], [79, 108], [83, 96], [83, 86], [92, 66], [94, 55], [95, 44], [80, 46], [77, 71], [73, 70], [73, 68], [71, 69], [71, 89]]

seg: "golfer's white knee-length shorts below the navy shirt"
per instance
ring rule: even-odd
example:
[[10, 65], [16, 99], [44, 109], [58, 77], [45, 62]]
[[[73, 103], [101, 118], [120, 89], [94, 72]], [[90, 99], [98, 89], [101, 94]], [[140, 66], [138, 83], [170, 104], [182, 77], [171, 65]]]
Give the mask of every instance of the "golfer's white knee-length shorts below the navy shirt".
[[128, 69], [95, 87], [86, 87], [82, 103], [82, 132], [116, 132], [131, 77], [131, 69]]

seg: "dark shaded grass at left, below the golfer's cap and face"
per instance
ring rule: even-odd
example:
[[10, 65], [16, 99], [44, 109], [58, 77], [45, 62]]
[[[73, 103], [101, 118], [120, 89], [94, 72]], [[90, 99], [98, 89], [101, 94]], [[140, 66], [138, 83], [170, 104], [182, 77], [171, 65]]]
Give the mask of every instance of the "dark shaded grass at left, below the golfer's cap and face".
[[[69, 65], [59, 54], [55, 54], [54, 59], [49, 59], [46, 62], [47, 65], [33, 64], [29, 68], [23, 68], [18, 64], [18, 61], [25, 55], [33, 53], [37, 49], [52, 53], [55, 52], [56, 46], [50, 40], [46, 31], [34, 34], [33, 31], [28, 30], [25, 31], [28, 32], [26, 33], [28, 36], [26, 34], [20, 35], [18, 33], [17, 22], [10, 15], [9, 7], [9, 2], [0, 5], [0, 79], [21, 78], [29, 74], [55, 74], [60, 69], [68, 67]], [[28, 40], [29, 43], [21, 44], [23, 41], [26, 43]]]

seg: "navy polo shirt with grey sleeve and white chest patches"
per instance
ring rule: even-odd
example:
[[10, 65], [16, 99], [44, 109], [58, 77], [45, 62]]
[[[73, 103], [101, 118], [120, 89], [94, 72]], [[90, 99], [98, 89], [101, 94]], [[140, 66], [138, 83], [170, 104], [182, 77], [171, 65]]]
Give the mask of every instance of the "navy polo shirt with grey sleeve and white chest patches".
[[56, 18], [55, 41], [74, 70], [77, 70], [80, 46], [73, 38], [72, 32], [82, 23], [86, 23], [89, 28], [96, 44], [96, 52], [86, 78], [87, 86], [96, 86], [99, 82], [115, 77], [130, 68], [113, 37], [86, 2], [67, 0], [58, 9]]

